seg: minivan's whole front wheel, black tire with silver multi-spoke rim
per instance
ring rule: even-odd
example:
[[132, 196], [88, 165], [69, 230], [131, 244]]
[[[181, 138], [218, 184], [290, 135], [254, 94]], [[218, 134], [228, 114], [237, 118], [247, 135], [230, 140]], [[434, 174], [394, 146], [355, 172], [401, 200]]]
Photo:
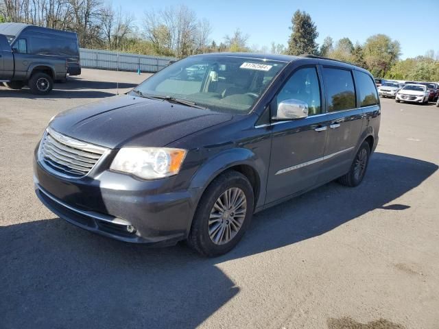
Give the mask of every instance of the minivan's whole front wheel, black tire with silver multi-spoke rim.
[[[221, 207], [218, 201], [220, 204], [226, 204], [226, 193], [230, 193], [229, 199], [235, 199], [235, 206], [241, 202], [241, 205], [235, 208], [239, 215], [230, 212], [228, 207], [224, 212], [219, 210]], [[242, 201], [242, 197], [245, 197], [245, 202]], [[253, 188], [246, 176], [237, 171], [226, 171], [215, 178], [204, 191], [195, 210], [187, 243], [203, 256], [226, 254], [237, 245], [246, 232], [253, 210]]]

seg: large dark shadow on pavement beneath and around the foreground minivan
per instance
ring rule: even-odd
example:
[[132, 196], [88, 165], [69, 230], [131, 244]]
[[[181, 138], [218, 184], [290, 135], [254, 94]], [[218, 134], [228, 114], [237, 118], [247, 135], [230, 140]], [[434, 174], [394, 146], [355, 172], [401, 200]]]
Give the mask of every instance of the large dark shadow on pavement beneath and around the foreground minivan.
[[239, 293], [220, 263], [311, 239], [377, 208], [404, 211], [412, 205], [393, 200], [437, 169], [377, 153], [357, 188], [330, 183], [264, 210], [232, 252], [211, 259], [185, 245], [113, 241], [57, 218], [0, 228], [0, 319], [5, 328], [195, 328]]

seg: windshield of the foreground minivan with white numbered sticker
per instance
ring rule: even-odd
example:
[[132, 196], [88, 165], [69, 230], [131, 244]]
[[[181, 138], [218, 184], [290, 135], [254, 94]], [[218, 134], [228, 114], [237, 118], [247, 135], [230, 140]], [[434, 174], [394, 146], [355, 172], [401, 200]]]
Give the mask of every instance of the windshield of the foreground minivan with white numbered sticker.
[[246, 114], [286, 62], [232, 56], [179, 60], [134, 88], [145, 97], [172, 97], [219, 112]]

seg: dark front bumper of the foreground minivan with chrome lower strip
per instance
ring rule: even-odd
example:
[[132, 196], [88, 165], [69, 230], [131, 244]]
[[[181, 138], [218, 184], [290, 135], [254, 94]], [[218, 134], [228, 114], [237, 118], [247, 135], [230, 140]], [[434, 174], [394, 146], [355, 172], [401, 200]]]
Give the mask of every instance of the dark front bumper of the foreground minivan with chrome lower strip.
[[49, 210], [75, 226], [120, 241], [174, 245], [187, 237], [198, 188], [163, 191], [164, 181], [112, 171], [94, 178], [61, 178], [34, 158], [36, 195]]

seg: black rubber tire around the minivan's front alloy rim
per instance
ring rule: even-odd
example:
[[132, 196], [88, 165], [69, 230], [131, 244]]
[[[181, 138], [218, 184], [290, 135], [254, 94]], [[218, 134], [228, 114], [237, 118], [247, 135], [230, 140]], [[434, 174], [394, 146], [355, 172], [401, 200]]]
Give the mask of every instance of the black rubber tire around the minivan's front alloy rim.
[[[237, 188], [244, 193], [246, 197], [246, 212], [244, 214], [244, 221], [241, 222], [240, 228], [231, 237], [230, 241], [224, 244], [217, 244], [213, 242], [211, 236], [209, 236], [209, 217], [211, 217], [211, 211], [214, 209], [214, 205], [217, 200], [222, 197], [223, 193], [230, 188]], [[226, 171], [222, 175], [219, 175], [204, 191], [200, 202], [198, 203], [197, 210], [193, 217], [191, 231], [187, 238], [187, 243], [190, 247], [195, 249], [203, 256], [215, 257], [229, 252], [237, 243], [241, 240], [242, 236], [246, 232], [250, 221], [253, 216], [254, 210], [254, 194], [253, 188], [246, 176], [238, 173], [237, 171]], [[233, 215], [233, 212], [232, 212]], [[225, 226], [225, 219], [217, 219], [219, 226]], [[227, 220], [227, 223], [228, 220]], [[230, 220], [230, 223], [233, 223]], [[229, 227], [231, 225], [229, 224]], [[221, 230], [221, 229], [219, 229]], [[229, 231], [230, 228], [229, 228]], [[231, 236], [232, 233], [230, 233]], [[220, 238], [221, 239], [221, 238]]]

